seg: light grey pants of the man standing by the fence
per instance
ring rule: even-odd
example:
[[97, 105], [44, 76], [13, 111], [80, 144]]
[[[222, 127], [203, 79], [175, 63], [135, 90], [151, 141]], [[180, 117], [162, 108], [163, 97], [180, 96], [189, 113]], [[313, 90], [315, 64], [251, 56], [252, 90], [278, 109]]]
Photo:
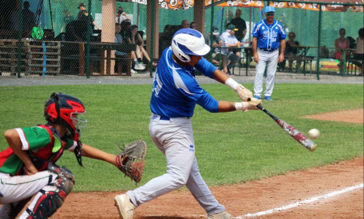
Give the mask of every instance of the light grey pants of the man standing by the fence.
[[[255, 68], [255, 81], [254, 81], [254, 96], [259, 96], [261, 98], [265, 96], [272, 96], [274, 87], [274, 76], [276, 75], [277, 63], [278, 63], [278, 49], [273, 52], [265, 52], [263, 50], [257, 49], [259, 61], [256, 63]], [[263, 75], [267, 67], [267, 77], [265, 82], [265, 91], [262, 96], [263, 91]]]

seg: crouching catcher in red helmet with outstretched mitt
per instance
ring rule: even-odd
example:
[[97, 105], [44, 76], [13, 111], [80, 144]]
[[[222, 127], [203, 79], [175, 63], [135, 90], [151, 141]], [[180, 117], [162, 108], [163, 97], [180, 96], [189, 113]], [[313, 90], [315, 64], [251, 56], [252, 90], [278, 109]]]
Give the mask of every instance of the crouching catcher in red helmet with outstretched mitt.
[[[53, 93], [44, 105], [46, 125], [5, 131], [9, 147], [0, 152], [0, 218], [15, 218], [32, 196], [20, 219], [48, 218], [62, 206], [75, 183], [70, 170], [55, 165], [64, 150], [73, 151], [80, 166], [83, 155], [111, 163], [135, 182], [140, 181], [145, 143], [137, 141], [119, 155], [82, 144], [79, 139], [87, 120], [81, 116], [85, 113], [76, 97]], [[141, 152], [134, 155], [137, 148], [142, 148]]]

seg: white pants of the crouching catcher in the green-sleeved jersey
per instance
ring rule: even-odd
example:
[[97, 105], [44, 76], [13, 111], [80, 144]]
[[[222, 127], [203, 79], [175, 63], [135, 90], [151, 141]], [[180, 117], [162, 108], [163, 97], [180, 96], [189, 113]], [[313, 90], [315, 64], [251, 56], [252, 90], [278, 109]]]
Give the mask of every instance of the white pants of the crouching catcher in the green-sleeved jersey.
[[[44, 191], [55, 191], [55, 186], [48, 186], [51, 182], [55, 182], [57, 175], [49, 171], [37, 172], [33, 175], [10, 176], [9, 174], [0, 172], [0, 192], [3, 197], [0, 197], [0, 219], [10, 218], [8, 215], [11, 213], [11, 203], [16, 205], [21, 200], [32, 197], [36, 194], [33, 201], [29, 204], [28, 208], [33, 210], [39, 197], [42, 195], [39, 192], [41, 189]], [[19, 216], [19, 219], [28, 218], [29, 214], [24, 211]]]

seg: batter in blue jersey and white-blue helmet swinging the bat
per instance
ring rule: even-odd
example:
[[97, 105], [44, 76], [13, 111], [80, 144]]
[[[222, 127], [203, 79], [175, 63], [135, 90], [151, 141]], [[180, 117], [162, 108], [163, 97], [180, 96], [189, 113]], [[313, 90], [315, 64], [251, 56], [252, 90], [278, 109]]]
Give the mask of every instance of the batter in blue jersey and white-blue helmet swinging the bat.
[[[121, 218], [131, 219], [135, 207], [185, 185], [205, 209], [207, 218], [234, 218], [217, 202], [199, 173], [190, 118], [196, 103], [209, 112], [230, 112], [258, 110], [256, 106], [261, 100], [253, 98], [252, 92], [204, 59], [202, 56], [209, 51], [200, 32], [185, 28], [174, 34], [171, 47], [162, 52], [153, 81], [149, 132], [166, 157], [167, 173], [115, 196]], [[215, 100], [197, 83], [194, 67], [232, 88], [242, 102]]]

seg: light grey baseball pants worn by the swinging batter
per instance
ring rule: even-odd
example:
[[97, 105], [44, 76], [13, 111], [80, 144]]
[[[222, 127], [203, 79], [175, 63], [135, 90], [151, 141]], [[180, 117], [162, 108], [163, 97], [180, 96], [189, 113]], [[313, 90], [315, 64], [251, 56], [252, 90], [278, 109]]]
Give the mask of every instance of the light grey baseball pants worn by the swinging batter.
[[217, 202], [199, 173], [191, 120], [185, 117], [160, 120], [160, 116], [152, 115], [149, 133], [155, 145], [166, 156], [168, 169], [166, 174], [126, 192], [134, 205], [138, 207], [186, 185], [207, 214], [225, 211], [225, 207]]

